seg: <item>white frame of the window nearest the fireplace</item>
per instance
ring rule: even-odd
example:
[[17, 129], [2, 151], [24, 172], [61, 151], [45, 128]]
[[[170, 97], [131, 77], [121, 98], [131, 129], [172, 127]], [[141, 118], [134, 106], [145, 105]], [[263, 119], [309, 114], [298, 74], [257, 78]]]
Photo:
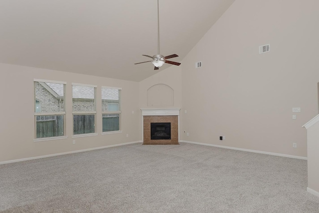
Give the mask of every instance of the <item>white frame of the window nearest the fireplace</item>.
[[[116, 134], [116, 133], [122, 133], [122, 111], [121, 111], [121, 102], [122, 102], [122, 88], [120, 87], [109, 87], [109, 86], [102, 86], [101, 88], [101, 94], [102, 94], [102, 90], [103, 89], [115, 89], [119, 91], [119, 101], [118, 101], [118, 105], [119, 105], [119, 111], [103, 111], [103, 100], [107, 100], [107, 99], [103, 99], [102, 95], [101, 95], [101, 105], [102, 105], [102, 126], [101, 126], [101, 135], [109, 135], [109, 134]], [[115, 103], [115, 102], [113, 102]], [[108, 103], [109, 104], [109, 103]], [[115, 131], [105, 131], [103, 132], [103, 115], [112, 115], [112, 114], [116, 114], [119, 115], [119, 130], [115, 130]]]

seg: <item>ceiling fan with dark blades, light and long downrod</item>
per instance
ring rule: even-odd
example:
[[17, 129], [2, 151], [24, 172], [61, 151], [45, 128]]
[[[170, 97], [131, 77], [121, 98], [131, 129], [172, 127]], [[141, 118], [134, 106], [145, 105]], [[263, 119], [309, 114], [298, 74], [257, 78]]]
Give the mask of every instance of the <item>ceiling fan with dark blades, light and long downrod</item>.
[[[178, 57], [178, 55], [172, 54], [172, 55], [163, 56], [163, 55], [160, 54], [160, 9], [159, 9], [159, 0], [158, 0], [158, 54], [157, 55], [153, 55], [153, 57], [150, 56], [150, 55], [144, 55], [144, 56], [153, 59], [151, 61], [152, 61], [152, 63], [155, 66], [154, 70], [159, 69], [159, 67], [161, 67], [164, 63], [173, 64], [173, 65], [177, 65], [177, 66], [180, 65], [180, 63], [178, 63], [178, 62], [166, 60], [166, 59], [169, 59], [169, 58]], [[141, 63], [146, 63], [146, 62], [151, 62], [151, 61], [144, 61], [144, 62], [135, 63], [135, 64], [141, 64]]]

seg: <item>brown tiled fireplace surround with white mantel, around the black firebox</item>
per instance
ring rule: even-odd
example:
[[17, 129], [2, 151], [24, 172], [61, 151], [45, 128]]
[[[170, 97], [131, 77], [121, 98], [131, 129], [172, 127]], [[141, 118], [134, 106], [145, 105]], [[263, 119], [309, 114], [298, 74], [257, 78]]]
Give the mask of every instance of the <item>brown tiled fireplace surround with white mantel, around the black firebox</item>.
[[[178, 145], [179, 108], [141, 109], [143, 145]], [[151, 123], [170, 123], [170, 140], [151, 140]]]

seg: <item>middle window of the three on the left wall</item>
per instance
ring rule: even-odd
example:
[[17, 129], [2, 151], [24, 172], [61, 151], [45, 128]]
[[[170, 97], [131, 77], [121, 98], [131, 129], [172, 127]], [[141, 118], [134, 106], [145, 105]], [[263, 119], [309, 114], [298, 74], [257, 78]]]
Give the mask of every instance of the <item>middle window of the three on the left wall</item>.
[[73, 135], [95, 133], [96, 86], [72, 83]]

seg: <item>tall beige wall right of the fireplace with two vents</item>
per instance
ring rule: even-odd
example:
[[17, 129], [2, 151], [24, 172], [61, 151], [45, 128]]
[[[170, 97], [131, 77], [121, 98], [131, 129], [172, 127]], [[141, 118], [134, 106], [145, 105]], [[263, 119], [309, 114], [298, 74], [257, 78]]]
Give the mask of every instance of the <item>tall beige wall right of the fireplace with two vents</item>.
[[[181, 61], [181, 132], [189, 132], [181, 139], [307, 157], [302, 125], [318, 111], [318, 8], [318, 0], [236, 0]], [[301, 107], [297, 120], [292, 107]]]

